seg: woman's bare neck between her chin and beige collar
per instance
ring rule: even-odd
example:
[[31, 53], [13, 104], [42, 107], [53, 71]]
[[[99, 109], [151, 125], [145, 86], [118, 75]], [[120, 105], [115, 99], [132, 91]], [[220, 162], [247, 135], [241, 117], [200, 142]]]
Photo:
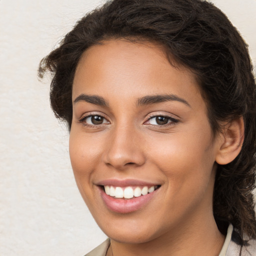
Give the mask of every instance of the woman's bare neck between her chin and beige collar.
[[217, 256], [224, 243], [215, 220], [198, 219], [195, 222], [179, 224], [168, 233], [148, 242], [131, 244], [111, 240], [107, 256]]

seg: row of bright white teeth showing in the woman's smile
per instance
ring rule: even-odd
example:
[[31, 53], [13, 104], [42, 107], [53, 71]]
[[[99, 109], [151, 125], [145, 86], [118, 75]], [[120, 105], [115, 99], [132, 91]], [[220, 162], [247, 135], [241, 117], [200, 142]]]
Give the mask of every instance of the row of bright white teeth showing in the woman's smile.
[[156, 189], [157, 186], [150, 186], [149, 188], [147, 186], [143, 186], [142, 189], [137, 186], [134, 189], [132, 189], [131, 186], [127, 186], [127, 187], [120, 187], [120, 186], [109, 186], [109, 185], [105, 185], [104, 189], [105, 189], [105, 193], [110, 195], [110, 196], [114, 196], [115, 198], [132, 198], [134, 197], [138, 197], [141, 195], [145, 195], [147, 193], [151, 193]]

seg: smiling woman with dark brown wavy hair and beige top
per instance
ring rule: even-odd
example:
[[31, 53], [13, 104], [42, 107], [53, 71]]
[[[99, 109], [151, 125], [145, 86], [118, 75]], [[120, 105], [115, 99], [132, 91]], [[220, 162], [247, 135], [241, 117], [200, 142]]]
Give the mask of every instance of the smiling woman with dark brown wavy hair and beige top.
[[80, 193], [110, 238], [86, 255], [256, 255], [255, 82], [201, 0], [112, 0], [40, 63]]

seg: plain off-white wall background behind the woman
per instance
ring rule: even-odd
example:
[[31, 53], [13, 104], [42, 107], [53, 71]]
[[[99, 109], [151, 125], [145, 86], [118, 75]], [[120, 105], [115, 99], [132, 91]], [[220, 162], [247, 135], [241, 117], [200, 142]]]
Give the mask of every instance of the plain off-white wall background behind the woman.
[[[0, 0], [0, 255], [82, 256], [105, 239], [76, 188], [68, 132], [36, 70], [75, 21], [104, 1]], [[213, 0], [256, 64], [256, 0]]]

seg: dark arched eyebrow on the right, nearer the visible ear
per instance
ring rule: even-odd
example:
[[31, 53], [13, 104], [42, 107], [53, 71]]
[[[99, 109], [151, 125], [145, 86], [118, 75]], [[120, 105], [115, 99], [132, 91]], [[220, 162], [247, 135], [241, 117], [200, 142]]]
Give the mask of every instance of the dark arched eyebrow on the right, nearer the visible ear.
[[155, 104], [165, 101], [179, 101], [191, 107], [190, 104], [183, 98], [178, 97], [174, 94], [157, 94], [157, 95], [148, 95], [137, 99], [137, 106]]

